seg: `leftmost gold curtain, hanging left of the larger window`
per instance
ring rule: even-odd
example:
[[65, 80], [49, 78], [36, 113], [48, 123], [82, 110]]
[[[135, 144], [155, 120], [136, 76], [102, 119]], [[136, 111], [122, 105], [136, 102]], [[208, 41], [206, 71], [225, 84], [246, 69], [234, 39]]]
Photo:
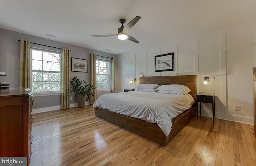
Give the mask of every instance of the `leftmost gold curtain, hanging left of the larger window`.
[[20, 88], [30, 88], [30, 41], [20, 39]]

